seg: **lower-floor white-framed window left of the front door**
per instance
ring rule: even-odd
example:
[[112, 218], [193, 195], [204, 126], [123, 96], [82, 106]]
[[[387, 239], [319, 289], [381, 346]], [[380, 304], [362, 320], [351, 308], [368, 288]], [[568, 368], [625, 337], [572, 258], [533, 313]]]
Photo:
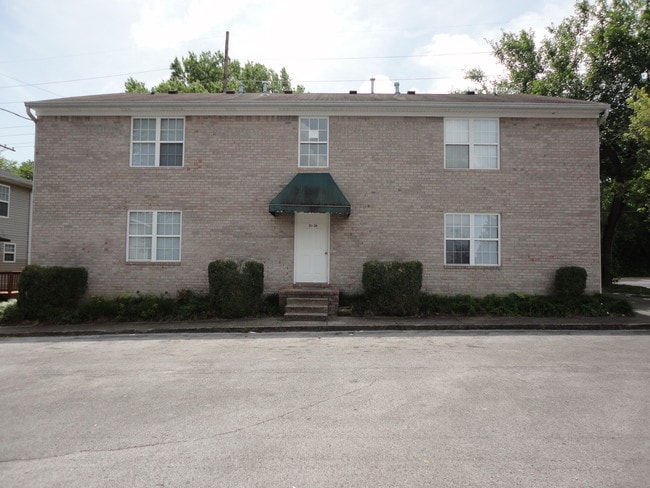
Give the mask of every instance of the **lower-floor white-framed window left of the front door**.
[[180, 261], [181, 212], [129, 212], [127, 261]]

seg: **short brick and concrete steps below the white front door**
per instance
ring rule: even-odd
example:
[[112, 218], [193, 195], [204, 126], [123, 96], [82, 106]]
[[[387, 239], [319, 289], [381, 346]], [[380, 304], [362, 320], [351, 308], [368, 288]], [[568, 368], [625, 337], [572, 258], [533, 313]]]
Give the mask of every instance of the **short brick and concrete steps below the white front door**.
[[339, 290], [331, 285], [293, 285], [279, 291], [285, 320], [327, 321], [339, 308]]

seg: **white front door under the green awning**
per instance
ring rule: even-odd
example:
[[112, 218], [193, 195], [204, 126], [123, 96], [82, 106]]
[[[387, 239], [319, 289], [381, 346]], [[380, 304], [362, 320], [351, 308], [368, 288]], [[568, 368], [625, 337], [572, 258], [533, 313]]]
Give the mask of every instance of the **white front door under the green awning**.
[[330, 216], [296, 213], [294, 282], [329, 282]]

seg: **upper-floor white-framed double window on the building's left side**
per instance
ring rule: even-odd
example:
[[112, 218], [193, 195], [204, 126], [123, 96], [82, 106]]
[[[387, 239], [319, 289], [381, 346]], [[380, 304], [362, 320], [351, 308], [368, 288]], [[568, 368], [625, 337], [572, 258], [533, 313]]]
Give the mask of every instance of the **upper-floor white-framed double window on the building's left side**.
[[133, 119], [131, 166], [183, 166], [183, 119]]

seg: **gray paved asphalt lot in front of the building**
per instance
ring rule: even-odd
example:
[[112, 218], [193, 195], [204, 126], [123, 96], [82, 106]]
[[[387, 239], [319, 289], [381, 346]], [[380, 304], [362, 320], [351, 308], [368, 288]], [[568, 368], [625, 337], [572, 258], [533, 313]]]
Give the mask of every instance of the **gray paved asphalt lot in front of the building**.
[[0, 486], [646, 487], [644, 333], [0, 341]]

